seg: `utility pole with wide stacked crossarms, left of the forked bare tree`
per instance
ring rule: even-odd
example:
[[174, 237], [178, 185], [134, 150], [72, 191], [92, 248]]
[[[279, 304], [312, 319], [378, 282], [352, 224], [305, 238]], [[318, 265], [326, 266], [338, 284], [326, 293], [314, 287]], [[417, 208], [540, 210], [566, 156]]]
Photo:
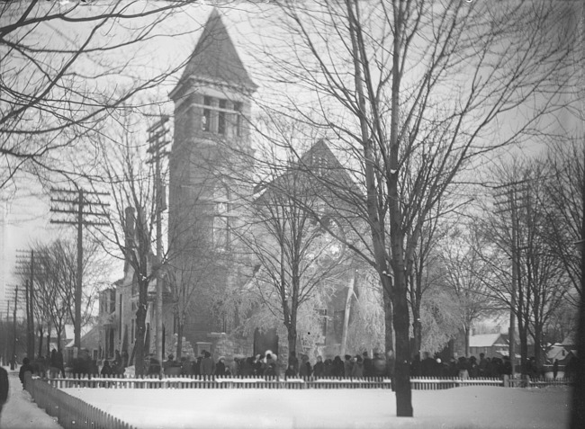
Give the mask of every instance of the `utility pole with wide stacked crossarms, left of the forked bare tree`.
[[65, 215], [74, 215], [66, 217], [67, 219], [51, 219], [50, 223], [59, 223], [66, 225], [75, 225], [77, 228], [77, 273], [76, 273], [76, 290], [75, 290], [75, 320], [74, 320], [74, 355], [81, 347], [81, 298], [83, 290], [83, 228], [84, 226], [106, 226], [108, 225], [101, 218], [107, 218], [107, 213], [94, 211], [94, 209], [108, 206], [107, 203], [95, 201], [100, 196], [109, 195], [107, 192], [85, 191], [82, 188], [76, 190], [70, 189], [51, 189], [56, 196], [50, 201], [58, 204], [66, 204], [65, 209], [62, 206], [54, 205], [50, 211], [54, 213], [63, 213]]

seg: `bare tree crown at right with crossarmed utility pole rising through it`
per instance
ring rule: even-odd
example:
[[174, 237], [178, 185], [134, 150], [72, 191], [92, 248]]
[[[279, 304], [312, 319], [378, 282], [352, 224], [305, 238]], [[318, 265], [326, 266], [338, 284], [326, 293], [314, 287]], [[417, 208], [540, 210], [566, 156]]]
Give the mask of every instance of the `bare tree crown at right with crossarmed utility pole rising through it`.
[[[518, 320], [524, 375], [529, 373], [528, 335], [534, 339], [538, 365], [543, 359], [545, 326], [570, 290], [563, 262], [554, 255], [544, 234], [548, 219], [539, 197], [545, 188], [543, 173], [542, 165], [534, 160], [525, 165], [510, 164], [501, 172], [502, 183], [509, 189], [505, 202], [508, 210], [500, 208], [492, 213], [482, 231], [495, 247], [476, 249], [484, 261], [491, 263], [491, 273], [495, 273], [486, 282], [491, 295], [505, 303]], [[496, 252], [504, 256], [494, 255]]]

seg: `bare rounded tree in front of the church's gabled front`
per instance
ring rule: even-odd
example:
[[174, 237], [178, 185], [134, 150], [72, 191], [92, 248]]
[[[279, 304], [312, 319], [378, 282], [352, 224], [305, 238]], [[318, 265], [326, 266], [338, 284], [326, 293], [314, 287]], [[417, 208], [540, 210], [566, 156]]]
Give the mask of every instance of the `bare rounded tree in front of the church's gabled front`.
[[[315, 159], [311, 153], [317, 150], [312, 147], [302, 156], [303, 162], [311, 164]], [[328, 217], [331, 201], [326, 190], [306, 174], [306, 165], [280, 165], [274, 152], [265, 156], [260, 169], [268, 170], [267, 174], [248, 201], [247, 221], [237, 230], [238, 240], [257, 264], [248, 282], [253, 289], [243, 290], [255, 298], [243, 302], [248, 308], [251, 302], [260, 302], [275, 320], [284, 323], [291, 353], [296, 352], [300, 339], [308, 339], [301, 338], [298, 331], [302, 308], [314, 310], [312, 317], [311, 312], [305, 317], [318, 318], [318, 310], [327, 308], [324, 297], [347, 286], [343, 279], [349, 266], [343, 244], [329, 234], [332, 230], [335, 235], [343, 234], [344, 219], [340, 223]]]

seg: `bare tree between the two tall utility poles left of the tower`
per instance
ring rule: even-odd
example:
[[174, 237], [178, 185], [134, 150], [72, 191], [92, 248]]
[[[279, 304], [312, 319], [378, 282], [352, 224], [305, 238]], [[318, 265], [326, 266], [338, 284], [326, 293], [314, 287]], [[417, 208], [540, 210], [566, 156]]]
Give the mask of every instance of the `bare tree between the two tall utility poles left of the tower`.
[[[119, 141], [103, 141], [101, 169], [112, 203], [109, 228], [102, 228], [100, 235], [104, 249], [124, 261], [124, 271], [131, 273], [132, 282], [138, 286], [134, 356], [136, 373], [143, 374], [148, 286], [156, 279], [166, 255], [157, 264], [153, 250], [157, 217], [154, 165], [147, 162], [141, 134], [130, 132], [128, 123], [122, 125]], [[103, 183], [96, 185], [104, 189]]]

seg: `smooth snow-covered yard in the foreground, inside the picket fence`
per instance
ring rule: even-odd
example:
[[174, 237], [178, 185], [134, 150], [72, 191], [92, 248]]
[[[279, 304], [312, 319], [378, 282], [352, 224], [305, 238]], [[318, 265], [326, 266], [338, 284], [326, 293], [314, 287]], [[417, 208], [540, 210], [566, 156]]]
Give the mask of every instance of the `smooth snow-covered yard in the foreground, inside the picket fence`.
[[63, 389], [138, 428], [563, 428], [567, 388], [414, 390], [414, 418], [382, 389]]

